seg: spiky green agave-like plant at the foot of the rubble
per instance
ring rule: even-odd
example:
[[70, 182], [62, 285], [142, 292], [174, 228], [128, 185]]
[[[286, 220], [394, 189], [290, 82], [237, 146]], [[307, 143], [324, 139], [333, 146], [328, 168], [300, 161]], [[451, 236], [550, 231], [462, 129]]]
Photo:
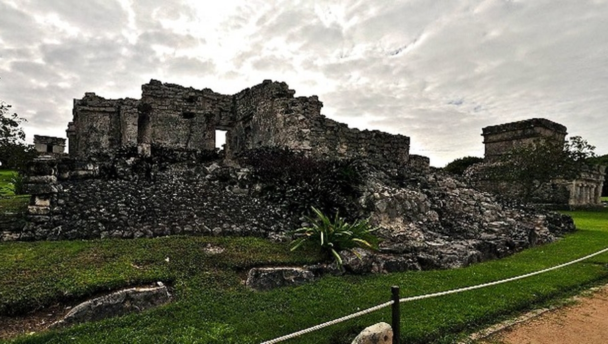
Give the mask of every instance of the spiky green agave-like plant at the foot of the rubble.
[[342, 265], [342, 258], [338, 254], [343, 249], [348, 249], [359, 257], [354, 248], [376, 249], [378, 238], [372, 234], [378, 228], [372, 228], [369, 218], [348, 223], [338, 213], [331, 220], [316, 207], [312, 207], [316, 218], [306, 217], [308, 227], [302, 227], [294, 231], [297, 237], [291, 243], [291, 251], [299, 248], [306, 242], [317, 243], [320, 248], [329, 251], [336, 258], [338, 265]]

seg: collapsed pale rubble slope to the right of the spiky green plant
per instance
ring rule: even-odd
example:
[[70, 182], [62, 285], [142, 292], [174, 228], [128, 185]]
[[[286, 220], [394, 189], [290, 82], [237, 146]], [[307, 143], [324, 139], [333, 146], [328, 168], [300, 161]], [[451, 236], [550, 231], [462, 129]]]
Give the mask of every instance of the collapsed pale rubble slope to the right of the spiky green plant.
[[[410, 175], [400, 184], [376, 171], [359, 202], [378, 226], [379, 251], [342, 251], [347, 271], [395, 272], [458, 268], [556, 240], [572, 218], [500, 204], [442, 174]], [[399, 178], [398, 178], [399, 180]]]

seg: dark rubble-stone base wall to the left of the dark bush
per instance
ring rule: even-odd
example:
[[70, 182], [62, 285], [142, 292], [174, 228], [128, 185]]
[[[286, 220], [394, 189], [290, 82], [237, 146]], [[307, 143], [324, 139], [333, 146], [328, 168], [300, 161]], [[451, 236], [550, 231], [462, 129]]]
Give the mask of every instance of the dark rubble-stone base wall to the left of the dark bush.
[[285, 213], [280, 205], [244, 188], [246, 169], [213, 162], [156, 166], [150, 173], [144, 172], [147, 167], [145, 160], [134, 159], [114, 165], [36, 160], [26, 179], [32, 195], [27, 224], [0, 232], [0, 241], [177, 234], [268, 237], [297, 226], [292, 219], [277, 218]]

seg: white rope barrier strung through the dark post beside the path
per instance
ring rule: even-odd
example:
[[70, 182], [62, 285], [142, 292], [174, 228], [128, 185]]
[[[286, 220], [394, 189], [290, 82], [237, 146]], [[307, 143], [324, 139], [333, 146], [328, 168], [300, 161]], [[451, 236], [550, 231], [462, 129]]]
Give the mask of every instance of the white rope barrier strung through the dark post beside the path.
[[[595, 253], [590, 254], [590, 255], [586, 255], [585, 257], [578, 258], [578, 259], [573, 260], [573, 261], [568, 261], [568, 263], [564, 263], [564, 264], [561, 264], [561, 265], [556, 265], [556, 266], [553, 266], [551, 268], [542, 269], [542, 270], [535, 271], [535, 272], [530, 272], [529, 274], [519, 275], [519, 276], [516, 276], [516, 277], [510, 277], [510, 278], [505, 278], [503, 280], [489, 282], [489, 283], [483, 283], [481, 285], [468, 286], [468, 287], [460, 288], [460, 289], [452, 289], [452, 290], [449, 290], [449, 291], [435, 292], [433, 294], [426, 294], [426, 295], [418, 295], [418, 296], [400, 298], [399, 299], [399, 303], [401, 303], [401, 302], [415, 301], [415, 300], [422, 300], [424, 298], [438, 297], [438, 296], [441, 296], [441, 295], [455, 294], [457, 292], [469, 291], [469, 290], [474, 290], [474, 289], [479, 289], [479, 288], [485, 288], [487, 286], [499, 285], [499, 284], [506, 283], [506, 282], [512, 282], [512, 281], [515, 281], [515, 280], [520, 280], [522, 278], [526, 278], [526, 277], [531, 277], [531, 276], [534, 276], [534, 275], [542, 274], [544, 272], [556, 270], [556, 269], [559, 269], [559, 268], [564, 268], [564, 266], [568, 266], [568, 265], [572, 265], [574, 263], [578, 263], [579, 261], [583, 261], [583, 260], [589, 259], [591, 257], [594, 257], [596, 255], [603, 254], [604, 252], [608, 252], [608, 248], [605, 248], [605, 249], [603, 249], [601, 251], [595, 252]], [[356, 312], [356, 313], [353, 313], [353, 314], [350, 314], [350, 315], [346, 315], [346, 316], [338, 318], [338, 319], [331, 320], [330, 322], [321, 323], [321, 324], [313, 326], [313, 327], [309, 327], [309, 328], [302, 329], [302, 330], [297, 331], [297, 332], [293, 332], [292, 334], [287, 334], [287, 335], [285, 335], [283, 337], [278, 337], [278, 338], [275, 338], [275, 339], [272, 339], [272, 340], [268, 340], [266, 342], [262, 342], [261, 344], [274, 344], [274, 343], [278, 343], [278, 342], [283, 342], [284, 340], [288, 340], [288, 339], [292, 339], [292, 338], [295, 338], [295, 337], [302, 336], [302, 334], [306, 334], [306, 333], [309, 333], [309, 332], [317, 331], [317, 329], [322, 329], [322, 328], [325, 328], [327, 326], [331, 326], [331, 325], [335, 325], [337, 323], [345, 322], [346, 320], [354, 319], [354, 318], [359, 317], [359, 316], [364, 315], [364, 314], [368, 314], [368, 313], [371, 313], [371, 312], [374, 312], [374, 311], [378, 311], [378, 309], [385, 308], [385, 307], [390, 306], [392, 304], [393, 304], [393, 301], [385, 302], [385, 303], [382, 303], [382, 305], [378, 305], [378, 306], [374, 306], [374, 307], [371, 307], [371, 308], [367, 308], [367, 309], [364, 309], [363, 311], [359, 311], [359, 312]]]

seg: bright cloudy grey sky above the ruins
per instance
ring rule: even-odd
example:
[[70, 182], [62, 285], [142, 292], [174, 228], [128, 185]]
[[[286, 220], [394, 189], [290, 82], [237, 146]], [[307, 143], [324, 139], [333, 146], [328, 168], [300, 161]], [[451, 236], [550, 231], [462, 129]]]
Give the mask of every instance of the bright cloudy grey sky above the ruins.
[[606, 154], [608, 0], [0, 0], [0, 99], [29, 140], [65, 137], [73, 98], [139, 98], [150, 79], [285, 81], [434, 166], [532, 117]]

